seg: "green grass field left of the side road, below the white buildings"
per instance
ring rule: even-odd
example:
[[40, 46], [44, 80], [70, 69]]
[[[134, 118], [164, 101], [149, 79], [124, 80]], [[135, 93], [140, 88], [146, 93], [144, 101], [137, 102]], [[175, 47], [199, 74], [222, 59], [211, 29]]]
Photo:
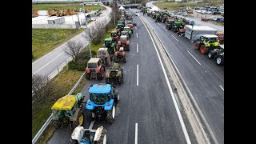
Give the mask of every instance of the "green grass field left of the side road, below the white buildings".
[[75, 35], [80, 34], [84, 29], [32, 29], [32, 50], [34, 59], [54, 50]]

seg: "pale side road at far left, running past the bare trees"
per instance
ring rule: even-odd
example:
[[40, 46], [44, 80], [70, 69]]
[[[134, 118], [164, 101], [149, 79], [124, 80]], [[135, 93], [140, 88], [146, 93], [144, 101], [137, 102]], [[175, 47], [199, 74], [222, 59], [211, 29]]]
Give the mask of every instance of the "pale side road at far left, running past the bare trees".
[[[103, 20], [110, 20], [110, 12], [111, 8], [106, 6], [106, 13], [103, 14], [103, 17], [98, 17], [97, 22], [101, 22]], [[91, 22], [88, 26], [94, 25], [94, 22]], [[82, 32], [81, 34], [78, 34], [74, 38], [71, 38], [70, 41], [79, 41], [82, 42], [83, 46], [86, 46], [88, 40], [86, 38], [83, 38], [83, 34], [85, 32]], [[32, 74], [40, 74], [48, 76], [54, 70], [58, 68], [58, 66], [61, 66], [62, 63], [66, 62], [68, 58], [70, 58], [69, 55], [66, 55], [64, 50], [66, 48], [66, 43], [63, 43], [61, 46], [58, 46], [54, 50], [50, 51], [48, 54], [44, 55], [42, 58], [38, 58], [35, 62], [32, 63]]]

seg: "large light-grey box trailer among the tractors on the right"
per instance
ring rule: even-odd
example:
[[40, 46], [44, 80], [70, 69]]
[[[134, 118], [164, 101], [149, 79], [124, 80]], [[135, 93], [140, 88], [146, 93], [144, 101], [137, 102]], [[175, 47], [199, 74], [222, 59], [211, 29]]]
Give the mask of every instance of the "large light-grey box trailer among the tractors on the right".
[[195, 37], [198, 34], [216, 34], [218, 30], [215, 30], [209, 26], [185, 26], [185, 37], [189, 38], [191, 42], [194, 42]]

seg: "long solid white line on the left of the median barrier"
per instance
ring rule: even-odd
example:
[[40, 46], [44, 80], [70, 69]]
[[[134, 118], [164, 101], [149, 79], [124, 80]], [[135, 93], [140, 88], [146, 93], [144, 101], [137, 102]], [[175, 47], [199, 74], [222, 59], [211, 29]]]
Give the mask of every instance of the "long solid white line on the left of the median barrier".
[[[143, 21], [142, 21], [142, 22], [143, 22]], [[145, 25], [144, 22], [143, 22], [143, 24], [144, 24], [144, 26], [146, 27], [146, 25]], [[153, 38], [151, 37], [150, 31], [147, 29], [147, 27], [146, 27], [146, 30], [147, 30], [147, 32], [149, 33], [150, 38], [151, 38], [151, 41], [152, 41], [153, 44], [154, 44]], [[157, 47], [155, 46], [155, 44], [154, 44], [154, 49], [155, 49], [155, 51], [156, 51], [157, 54], [158, 54], [158, 50], [157, 50]], [[168, 86], [168, 88], [169, 88], [169, 90], [170, 90], [170, 95], [171, 95], [171, 98], [172, 98], [172, 100], [173, 100], [173, 102], [174, 102], [175, 110], [176, 110], [176, 112], [177, 112], [177, 114], [178, 114], [178, 120], [179, 120], [179, 122], [181, 122], [182, 131], [183, 131], [183, 133], [184, 133], [184, 135], [185, 135], [185, 138], [186, 138], [186, 143], [191, 144], [189, 134], [187, 133], [186, 126], [185, 126], [184, 121], [183, 121], [183, 118], [182, 118], [182, 114], [181, 114], [181, 112], [180, 112], [179, 109], [178, 109], [178, 103], [176, 102], [176, 99], [174, 98], [174, 92], [173, 92], [173, 90], [171, 89], [170, 82], [169, 82], [168, 77], [167, 77], [167, 74], [166, 74], [166, 70], [165, 70], [165, 68], [164, 68], [164, 66], [163, 66], [163, 64], [162, 64], [162, 60], [161, 60], [159, 54], [158, 54], [158, 59], [159, 59], [160, 64], [161, 64], [161, 66], [162, 66], [162, 71], [163, 71], [163, 74], [165, 75], [166, 82], [167, 82], [167, 86]]]

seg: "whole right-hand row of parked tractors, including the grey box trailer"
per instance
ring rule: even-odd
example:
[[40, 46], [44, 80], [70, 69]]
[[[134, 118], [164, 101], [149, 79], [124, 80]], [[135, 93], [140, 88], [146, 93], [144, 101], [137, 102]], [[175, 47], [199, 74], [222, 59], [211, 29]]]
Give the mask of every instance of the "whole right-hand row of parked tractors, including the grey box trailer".
[[150, 10], [144, 7], [141, 11], [143, 15], [146, 14], [154, 19], [154, 22], [165, 23], [167, 30], [173, 30], [179, 36], [185, 36], [194, 42], [195, 50], [207, 54], [208, 58], [214, 59], [218, 66], [224, 65], [224, 32], [209, 26], [196, 26], [194, 21], [174, 16], [166, 10]]

